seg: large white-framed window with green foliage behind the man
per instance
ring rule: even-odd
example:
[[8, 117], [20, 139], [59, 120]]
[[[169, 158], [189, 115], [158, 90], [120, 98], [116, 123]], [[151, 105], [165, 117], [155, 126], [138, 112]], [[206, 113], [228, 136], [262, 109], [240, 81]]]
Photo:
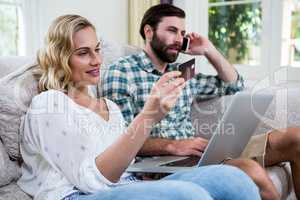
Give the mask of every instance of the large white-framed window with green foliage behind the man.
[[[186, 11], [187, 30], [212, 40], [246, 80], [300, 80], [300, 0], [174, 0], [174, 4]], [[215, 73], [205, 59], [199, 59], [197, 67]]]

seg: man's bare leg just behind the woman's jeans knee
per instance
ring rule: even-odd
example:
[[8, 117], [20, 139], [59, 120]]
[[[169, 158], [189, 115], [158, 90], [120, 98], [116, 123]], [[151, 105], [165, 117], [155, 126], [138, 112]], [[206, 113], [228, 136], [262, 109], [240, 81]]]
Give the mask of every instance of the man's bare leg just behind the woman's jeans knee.
[[226, 164], [236, 166], [248, 174], [259, 187], [262, 199], [280, 199], [272, 180], [257, 162], [250, 159], [234, 159], [226, 161]]

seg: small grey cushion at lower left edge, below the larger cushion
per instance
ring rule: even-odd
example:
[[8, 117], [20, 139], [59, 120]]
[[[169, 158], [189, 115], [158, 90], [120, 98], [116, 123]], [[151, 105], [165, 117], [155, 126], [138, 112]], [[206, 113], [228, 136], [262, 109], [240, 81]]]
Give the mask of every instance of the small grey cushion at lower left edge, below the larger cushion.
[[0, 186], [9, 184], [20, 177], [20, 167], [17, 162], [9, 159], [0, 141]]

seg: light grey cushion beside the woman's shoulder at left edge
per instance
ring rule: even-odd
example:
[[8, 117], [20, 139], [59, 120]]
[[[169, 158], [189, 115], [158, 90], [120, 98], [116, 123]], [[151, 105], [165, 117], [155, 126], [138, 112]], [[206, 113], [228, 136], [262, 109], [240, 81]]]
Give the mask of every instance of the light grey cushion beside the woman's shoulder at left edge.
[[0, 138], [11, 159], [21, 158], [19, 128], [31, 99], [37, 94], [32, 75], [35, 63], [29, 63], [0, 80]]

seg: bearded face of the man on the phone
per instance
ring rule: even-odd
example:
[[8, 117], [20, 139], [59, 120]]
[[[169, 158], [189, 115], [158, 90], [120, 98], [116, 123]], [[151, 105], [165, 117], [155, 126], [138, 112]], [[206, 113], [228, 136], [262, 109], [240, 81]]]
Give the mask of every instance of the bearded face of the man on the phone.
[[163, 62], [175, 62], [185, 35], [185, 22], [179, 17], [163, 17], [153, 31], [150, 46], [156, 56]]

